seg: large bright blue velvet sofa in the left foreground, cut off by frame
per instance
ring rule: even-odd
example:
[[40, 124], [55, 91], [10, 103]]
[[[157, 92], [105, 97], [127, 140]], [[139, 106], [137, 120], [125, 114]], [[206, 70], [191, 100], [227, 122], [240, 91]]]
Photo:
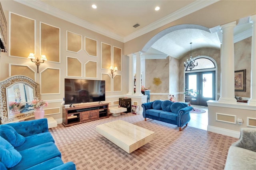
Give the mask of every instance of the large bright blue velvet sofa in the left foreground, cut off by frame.
[[0, 125], [0, 170], [75, 170], [64, 163], [47, 119]]

